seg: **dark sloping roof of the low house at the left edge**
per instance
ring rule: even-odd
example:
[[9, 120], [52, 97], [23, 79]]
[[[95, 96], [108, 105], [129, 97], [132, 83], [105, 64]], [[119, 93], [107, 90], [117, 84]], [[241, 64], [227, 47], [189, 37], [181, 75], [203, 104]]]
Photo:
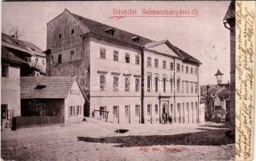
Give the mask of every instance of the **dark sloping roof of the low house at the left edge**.
[[20, 59], [18, 56], [15, 56], [14, 53], [10, 52], [6, 47], [2, 46], [1, 51], [2, 60], [8, 60], [15, 64], [27, 64], [26, 61]]

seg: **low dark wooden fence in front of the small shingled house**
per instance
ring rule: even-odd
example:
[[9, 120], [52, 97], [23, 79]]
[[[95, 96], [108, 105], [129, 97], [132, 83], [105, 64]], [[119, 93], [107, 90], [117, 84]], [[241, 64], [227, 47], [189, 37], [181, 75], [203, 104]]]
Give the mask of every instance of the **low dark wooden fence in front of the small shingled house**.
[[27, 126], [44, 126], [64, 123], [64, 116], [32, 116], [32, 117], [15, 117], [12, 120], [12, 130]]

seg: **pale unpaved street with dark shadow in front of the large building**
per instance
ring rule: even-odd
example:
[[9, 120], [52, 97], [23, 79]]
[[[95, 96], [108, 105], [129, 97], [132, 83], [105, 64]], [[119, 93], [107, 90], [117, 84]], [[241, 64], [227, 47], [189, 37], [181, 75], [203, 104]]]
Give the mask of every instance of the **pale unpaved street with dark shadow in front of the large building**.
[[[121, 134], [115, 130], [126, 129]], [[89, 118], [65, 126], [2, 132], [5, 160], [230, 160], [234, 142], [223, 124], [113, 124]]]

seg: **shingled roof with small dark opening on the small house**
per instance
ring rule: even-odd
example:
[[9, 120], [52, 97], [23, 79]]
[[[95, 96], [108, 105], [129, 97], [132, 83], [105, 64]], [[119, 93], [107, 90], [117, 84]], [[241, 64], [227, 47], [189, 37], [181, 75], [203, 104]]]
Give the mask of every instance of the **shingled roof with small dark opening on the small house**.
[[21, 76], [20, 97], [66, 98], [74, 81], [74, 76]]

